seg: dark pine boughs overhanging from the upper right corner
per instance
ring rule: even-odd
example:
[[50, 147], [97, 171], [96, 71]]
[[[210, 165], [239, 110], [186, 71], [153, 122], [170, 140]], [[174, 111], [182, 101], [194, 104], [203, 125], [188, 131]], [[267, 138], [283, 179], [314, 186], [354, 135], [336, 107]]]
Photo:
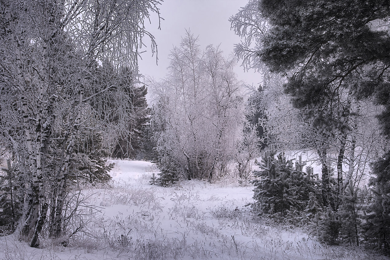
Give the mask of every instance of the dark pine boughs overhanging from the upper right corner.
[[379, 118], [387, 127], [390, 35], [388, 24], [377, 23], [390, 17], [389, 5], [361, 0], [258, 1], [256, 18], [267, 21], [267, 28], [257, 38], [261, 42], [256, 61], [271, 72], [291, 74], [285, 91], [321, 125], [347, 127], [344, 119], [350, 111], [340, 102], [341, 92], [361, 98], [384, 92], [378, 103], [385, 103], [386, 110]]

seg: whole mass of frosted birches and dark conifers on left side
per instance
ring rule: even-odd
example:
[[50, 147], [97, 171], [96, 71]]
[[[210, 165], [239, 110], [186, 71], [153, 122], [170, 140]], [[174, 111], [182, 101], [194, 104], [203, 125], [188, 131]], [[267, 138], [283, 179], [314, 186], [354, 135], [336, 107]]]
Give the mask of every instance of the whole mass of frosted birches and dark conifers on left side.
[[[159, 1], [0, 2], [1, 232], [66, 243], [74, 187], [134, 157], [147, 118], [139, 49]], [[126, 144], [125, 144], [126, 143]], [[72, 204], [73, 203], [73, 204]]]

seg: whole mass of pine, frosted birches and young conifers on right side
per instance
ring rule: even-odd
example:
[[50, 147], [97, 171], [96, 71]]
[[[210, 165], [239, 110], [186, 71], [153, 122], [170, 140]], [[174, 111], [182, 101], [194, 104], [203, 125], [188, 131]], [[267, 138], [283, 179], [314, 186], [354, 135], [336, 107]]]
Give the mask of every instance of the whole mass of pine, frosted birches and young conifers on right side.
[[[260, 212], [317, 214], [322, 241], [363, 242], [387, 255], [389, 17], [388, 1], [251, 0], [230, 18], [245, 39], [236, 54], [264, 75], [257, 100], [273, 147], [255, 172]], [[316, 151], [321, 179], [275, 148]]]

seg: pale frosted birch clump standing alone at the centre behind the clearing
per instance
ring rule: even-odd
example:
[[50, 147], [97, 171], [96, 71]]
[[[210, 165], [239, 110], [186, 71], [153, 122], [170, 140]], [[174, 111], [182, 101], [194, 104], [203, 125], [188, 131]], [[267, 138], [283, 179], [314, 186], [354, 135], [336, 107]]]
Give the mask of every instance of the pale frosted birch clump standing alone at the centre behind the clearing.
[[188, 179], [211, 179], [232, 160], [244, 120], [243, 84], [233, 66], [218, 48], [202, 51], [187, 33], [171, 51], [165, 79], [151, 83], [157, 151], [181, 165]]

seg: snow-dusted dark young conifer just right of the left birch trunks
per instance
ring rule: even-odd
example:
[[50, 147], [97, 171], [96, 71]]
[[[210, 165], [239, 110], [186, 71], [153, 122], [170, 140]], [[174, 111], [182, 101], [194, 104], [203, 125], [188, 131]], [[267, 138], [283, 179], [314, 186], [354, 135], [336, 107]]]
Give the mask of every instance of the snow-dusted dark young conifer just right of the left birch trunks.
[[78, 139], [74, 151], [74, 175], [71, 179], [78, 178], [92, 184], [107, 183], [111, 176], [108, 172], [114, 167], [114, 163], [106, 165], [109, 155], [108, 149], [103, 146], [103, 137], [100, 132], [91, 131], [82, 135], [85, 138]]

